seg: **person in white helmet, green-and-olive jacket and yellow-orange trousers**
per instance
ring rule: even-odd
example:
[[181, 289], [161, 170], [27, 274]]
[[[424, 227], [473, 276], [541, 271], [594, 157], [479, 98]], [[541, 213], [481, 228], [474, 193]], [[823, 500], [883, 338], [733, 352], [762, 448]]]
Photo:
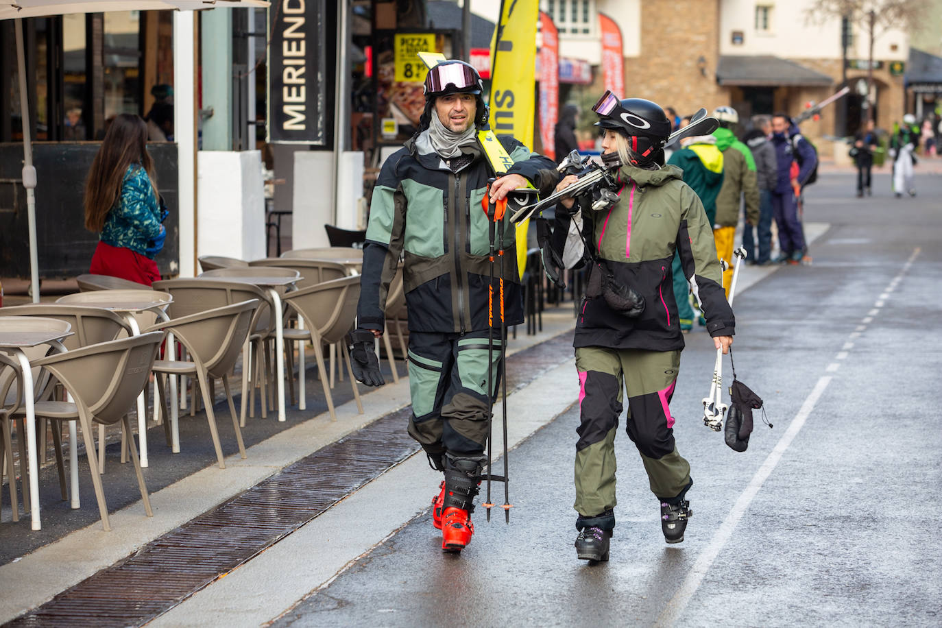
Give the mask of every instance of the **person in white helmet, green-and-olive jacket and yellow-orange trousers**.
[[745, 229], [752, 229], [759, 220], [759, 190], [755, 183], [753, 153], [733, 133], [739, 124], [739, 113], [731, 106], [721, 106], [713, 111], [713, 117], [720, 121], [720, 128], [713, 132], [713, 137], [716, 137], [716, 147], [723, 153], [723, 186], [716, 197], [713, 238], [717, 254], [729, 265], [723, 272], [723, 290], [729, 297], [739, 204], [741, 200], [745, 201]]

